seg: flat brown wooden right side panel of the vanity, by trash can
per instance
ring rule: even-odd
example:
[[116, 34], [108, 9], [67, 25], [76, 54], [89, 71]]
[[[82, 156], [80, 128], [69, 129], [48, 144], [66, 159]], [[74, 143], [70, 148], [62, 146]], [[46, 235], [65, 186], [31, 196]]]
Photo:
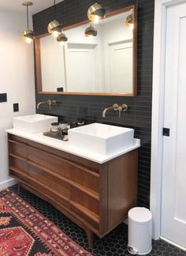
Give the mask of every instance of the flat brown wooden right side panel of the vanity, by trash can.
[[138, 151], [128, 152], [108, 164], [109, 229], [121, 223], [128, 210], [136, 206]]

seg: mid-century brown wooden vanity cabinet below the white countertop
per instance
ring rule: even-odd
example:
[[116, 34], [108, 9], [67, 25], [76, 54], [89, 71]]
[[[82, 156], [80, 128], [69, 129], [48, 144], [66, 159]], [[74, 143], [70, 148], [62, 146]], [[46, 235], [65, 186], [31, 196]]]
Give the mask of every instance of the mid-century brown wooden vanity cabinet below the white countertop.
[[136, 205], [138, 150], [97, 164], [8, 134], [9, 175], [49, 201], [87, 232], [102, 238]]

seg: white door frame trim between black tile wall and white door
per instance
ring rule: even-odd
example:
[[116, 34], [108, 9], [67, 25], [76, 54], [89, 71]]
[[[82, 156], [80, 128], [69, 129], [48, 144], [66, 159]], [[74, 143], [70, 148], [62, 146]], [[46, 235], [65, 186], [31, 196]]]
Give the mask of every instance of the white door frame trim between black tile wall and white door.
[[164, 122], [164, 80], [166, 47], [166, 9], [186, 0], [154, 0], [154, 55], [152, 91], [152, 132], [151, 132], [151, 198], [153, 216], [153, 239], [161, 236], [162, 202], [162, 127]]

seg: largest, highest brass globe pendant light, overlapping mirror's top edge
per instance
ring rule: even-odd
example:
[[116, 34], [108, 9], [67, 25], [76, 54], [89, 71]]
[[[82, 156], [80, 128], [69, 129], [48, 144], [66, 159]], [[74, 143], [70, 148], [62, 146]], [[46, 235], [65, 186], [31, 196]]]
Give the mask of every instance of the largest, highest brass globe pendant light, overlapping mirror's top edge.
[[98, 3], [95, 3], [88, 8], [87, 17], [89, 21], [93, 22], [94, 24], [99, 24], [101, 19], [106, 17], [106, 10]]

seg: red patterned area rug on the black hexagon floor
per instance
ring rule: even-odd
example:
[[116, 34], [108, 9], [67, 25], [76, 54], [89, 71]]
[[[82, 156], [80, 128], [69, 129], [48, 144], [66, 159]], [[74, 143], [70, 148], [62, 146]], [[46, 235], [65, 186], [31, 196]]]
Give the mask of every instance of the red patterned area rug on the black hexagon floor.
[[91, 256], [17, 194], [0, 191], [0, 255]]

